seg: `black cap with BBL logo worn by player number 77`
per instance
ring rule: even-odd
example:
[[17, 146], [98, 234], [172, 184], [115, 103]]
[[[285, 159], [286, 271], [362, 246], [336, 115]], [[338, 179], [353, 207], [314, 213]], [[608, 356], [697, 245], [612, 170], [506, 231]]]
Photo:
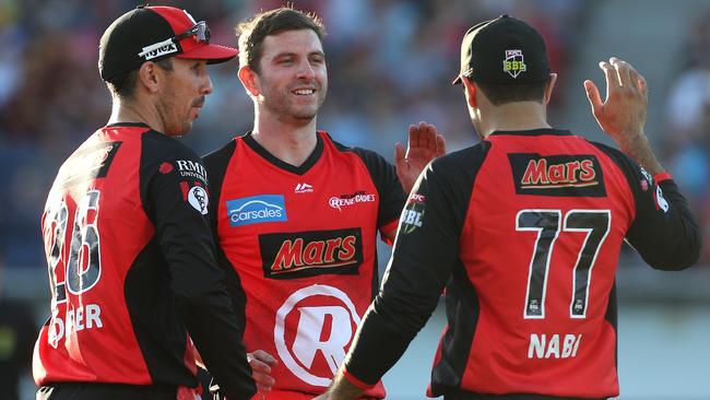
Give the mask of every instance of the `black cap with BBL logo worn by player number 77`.
[[472, 26], [461, 43], [461, 70], [452, 84], [466, 77], [481, 83], [536, 83], [549, 77], [545, 40], [532, 26], [500, 15]]

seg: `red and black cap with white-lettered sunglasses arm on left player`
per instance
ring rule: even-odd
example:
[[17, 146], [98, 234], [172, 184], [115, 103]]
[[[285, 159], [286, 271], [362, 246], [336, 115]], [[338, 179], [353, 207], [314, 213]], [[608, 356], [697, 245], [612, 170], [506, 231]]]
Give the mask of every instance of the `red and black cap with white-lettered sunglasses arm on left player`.
[[234, 58], [238, 50], [209, 43], [204, 24], [201, 39], [197, 35], [176, 36], [197, 26], [185, 10], [174, 7], [139, 7], [114, 21], [100, 39], [98, 72], [104, 81], [140, 68], [143, 62], [167, 57], [204, 59], [218, 63]]

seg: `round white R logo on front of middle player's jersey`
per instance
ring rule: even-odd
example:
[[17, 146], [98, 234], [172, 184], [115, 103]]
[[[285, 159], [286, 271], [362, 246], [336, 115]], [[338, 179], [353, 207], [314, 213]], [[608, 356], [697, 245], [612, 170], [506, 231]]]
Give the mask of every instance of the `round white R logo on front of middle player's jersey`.
[[[274, 344], [296, 377], [326, 387], [345, 360], [359, 321], [355, 305], [343, 291], [318, 284], [303, 287], [276, 311]], [[287, 338], [286, 331], [295, 331], [295, 337]]]

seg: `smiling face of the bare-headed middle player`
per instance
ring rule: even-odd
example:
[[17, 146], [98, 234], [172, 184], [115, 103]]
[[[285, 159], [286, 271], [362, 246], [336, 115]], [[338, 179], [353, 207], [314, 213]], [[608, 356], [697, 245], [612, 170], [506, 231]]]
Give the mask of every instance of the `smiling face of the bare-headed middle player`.
[[309, 123], [326, 99], [328, 71], [318, 35], [311, 30], [284, 31], [263, 40], [253, 89], [259, 114], [297, 125]]

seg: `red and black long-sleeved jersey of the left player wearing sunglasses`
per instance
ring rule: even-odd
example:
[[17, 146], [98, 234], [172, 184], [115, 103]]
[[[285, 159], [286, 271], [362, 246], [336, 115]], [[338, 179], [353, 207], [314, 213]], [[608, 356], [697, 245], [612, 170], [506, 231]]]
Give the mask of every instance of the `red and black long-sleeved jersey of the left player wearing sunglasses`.
[[196, 387], [191, 338], [226, 392], [256, 391], [206, 183], [194, 152], [142, 123], [102, 128], [64, 162], [42, 220], [51, 317], [35, 345], [38, 385]]

